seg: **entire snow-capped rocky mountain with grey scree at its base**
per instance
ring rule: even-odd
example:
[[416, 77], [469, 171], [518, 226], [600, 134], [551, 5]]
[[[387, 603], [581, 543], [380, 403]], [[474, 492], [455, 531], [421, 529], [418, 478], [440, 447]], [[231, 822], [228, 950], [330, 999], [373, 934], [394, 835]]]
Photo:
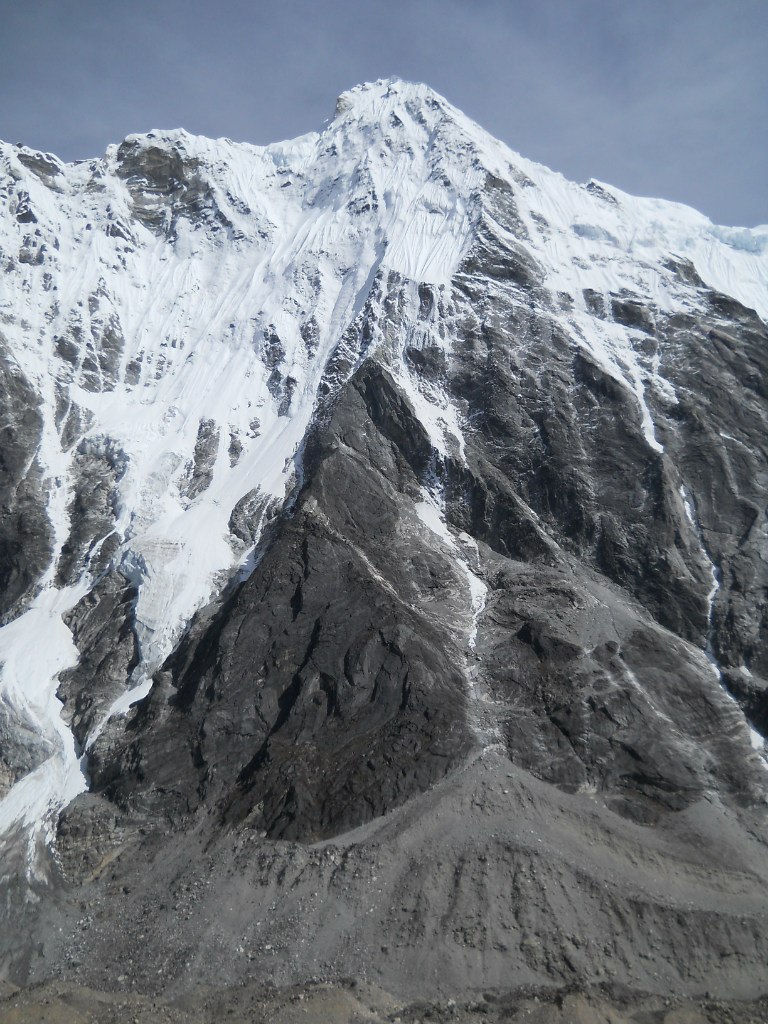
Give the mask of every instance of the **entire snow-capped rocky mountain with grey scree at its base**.
[[0, 976], [765, 992], [768, 227], [397, 80], [0, 188]]

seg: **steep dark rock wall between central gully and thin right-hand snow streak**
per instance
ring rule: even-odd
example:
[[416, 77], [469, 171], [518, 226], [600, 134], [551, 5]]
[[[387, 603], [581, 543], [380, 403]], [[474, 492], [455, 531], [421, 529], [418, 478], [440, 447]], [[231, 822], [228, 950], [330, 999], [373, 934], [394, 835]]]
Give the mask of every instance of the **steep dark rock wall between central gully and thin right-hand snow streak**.
[[709, 562], [636, 397], [514, 290], [459, 282], [449, 386], [469, 406], [470, 465], [489, 464], [552, 541], [703, 644]]

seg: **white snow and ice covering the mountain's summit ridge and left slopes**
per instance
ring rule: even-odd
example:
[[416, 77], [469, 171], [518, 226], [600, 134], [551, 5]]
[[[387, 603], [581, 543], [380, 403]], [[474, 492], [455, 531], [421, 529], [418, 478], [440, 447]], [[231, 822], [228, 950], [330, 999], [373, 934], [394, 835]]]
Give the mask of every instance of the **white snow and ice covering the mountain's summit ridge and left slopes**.
[[[514, 188], [514, 221], [483, 200], [497, 179]], [[25, 472], [49, 524], [45, 568], [8, 597], [0, 631], [2, 700], [47, 744], [26, 777], [10, 770], [0, 831], [34, 826], [33, 843], [87, 784], [55, 691], [79, 657], [61, 616], [100, 579], [135, 588], [137, 656], [86, 744], [252, 569], [301, 482], [310, 424], [367, 355], [390, 368], [434, 450], [464, 457], [466, 410], [403, 353], [415, 338], [450, 350], [439, 318], [420, 316], [420, 286], [447, 304], [473, 247], [519, 254], [550, 322], [634, 396], [655, 452], [648, 394], [674, 396], [665, 353], [595, 304], [642, 295], [659, 314], [685, 311], [688, 261], [768, 317], [768, 228], [573, 184], [395, 80], [342, 95], [322, 132], [266, 147], [154, 131], [66, 165], [4, 144], [0, 196], [0, 341], [11, 378], [40, 398]], [[367, 330], [393, 275], [410, 326]], [[435, 502], [422, 518], [439, 534]], [[462, 566], [479, 614], [484, 585]]]

